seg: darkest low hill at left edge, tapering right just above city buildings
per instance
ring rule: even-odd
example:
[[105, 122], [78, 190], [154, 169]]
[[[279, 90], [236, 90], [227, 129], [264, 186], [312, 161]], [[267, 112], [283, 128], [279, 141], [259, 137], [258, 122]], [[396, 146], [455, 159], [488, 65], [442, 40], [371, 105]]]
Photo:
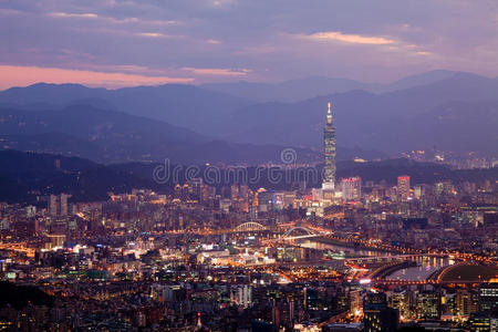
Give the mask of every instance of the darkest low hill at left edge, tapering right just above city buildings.
[[71, 194], [77, 201], [103, 200], [110, 191], [155, 185], [152, 178], [137, 178], [76, 157], [0, 151], [0, 201], [37, 204], [44, 195], [60, 193]]

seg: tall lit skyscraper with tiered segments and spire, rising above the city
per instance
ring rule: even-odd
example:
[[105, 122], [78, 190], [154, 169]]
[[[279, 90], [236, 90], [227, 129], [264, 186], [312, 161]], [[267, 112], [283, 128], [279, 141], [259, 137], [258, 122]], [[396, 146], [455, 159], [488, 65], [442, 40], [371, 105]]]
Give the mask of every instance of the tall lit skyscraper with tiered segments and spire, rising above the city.
[[323, 172], [322, 189], [333, 190], [335, 187], [335, 127], [332, 123], [331, 104], [326, 112], [326, 124], [323, 128], [323, 145], [325, 166]]

